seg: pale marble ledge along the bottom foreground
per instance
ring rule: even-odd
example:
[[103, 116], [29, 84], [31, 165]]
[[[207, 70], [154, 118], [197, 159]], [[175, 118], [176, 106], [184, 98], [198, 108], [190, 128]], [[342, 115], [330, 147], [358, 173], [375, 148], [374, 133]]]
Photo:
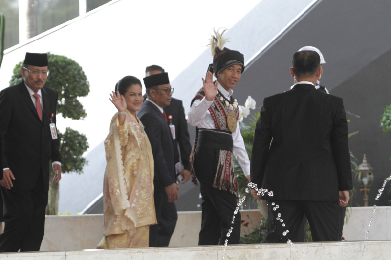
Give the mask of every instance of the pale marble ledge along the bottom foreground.
[[7, 260], [389, 260], [391, 240], [2, 253]]

